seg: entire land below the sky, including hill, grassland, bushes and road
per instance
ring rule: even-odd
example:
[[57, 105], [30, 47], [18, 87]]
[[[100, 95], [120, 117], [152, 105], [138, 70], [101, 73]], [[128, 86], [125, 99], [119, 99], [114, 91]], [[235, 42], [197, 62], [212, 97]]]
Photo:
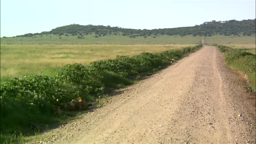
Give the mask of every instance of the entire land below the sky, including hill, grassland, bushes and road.
[[255, 143], [255, 19], [1, 37], [1, 143]]

